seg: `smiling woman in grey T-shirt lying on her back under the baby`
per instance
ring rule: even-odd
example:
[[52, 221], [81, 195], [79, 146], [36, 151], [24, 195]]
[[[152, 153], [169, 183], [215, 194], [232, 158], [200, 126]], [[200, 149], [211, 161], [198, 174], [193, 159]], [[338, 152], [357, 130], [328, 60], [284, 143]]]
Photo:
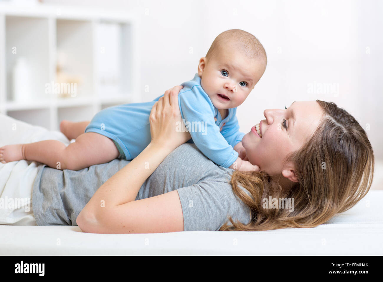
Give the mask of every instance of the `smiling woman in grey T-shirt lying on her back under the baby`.
[[[265, 110], [262, 138], [250, 131], [242, 139], [246, 158], [261, 171], [244, 173], [219, 167], [195, 145], [183, 144], [190, 135], [175, 132], [180, 89], [166, 91], [154, 105], [152, 142], [131, 162], [78, 172], [45, 168], [33, 191], [38, 224], [67, 218], [90, 233], [310, 228], [367, 194], [372, 147], [354, 117], [334, 103]], [[127, 164], [116, 172], [115, 162]], [[106, 172], [116, 173], [94, 193], [95, 173], [105, 178]], [[59, 186], [63, 175], [65, 187]], [[294, 207], [268, 206], [269, 198], [294, 199]]]

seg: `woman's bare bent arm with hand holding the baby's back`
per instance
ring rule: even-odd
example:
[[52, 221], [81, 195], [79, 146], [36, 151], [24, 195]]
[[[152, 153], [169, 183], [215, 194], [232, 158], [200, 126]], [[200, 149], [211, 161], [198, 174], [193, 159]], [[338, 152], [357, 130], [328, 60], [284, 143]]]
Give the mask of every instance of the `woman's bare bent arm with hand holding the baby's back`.
[[176, 86], [165, 92], [150, 114], [151, 143], [128, 165], [96, 191], [77, 217], [77, 225], [89, 233], [160, 233], [183, 231], [183, 214], [177, 190], [137, 200], [144, 181], [164, 158], [190, 139], [176, 132], [182, 122]]

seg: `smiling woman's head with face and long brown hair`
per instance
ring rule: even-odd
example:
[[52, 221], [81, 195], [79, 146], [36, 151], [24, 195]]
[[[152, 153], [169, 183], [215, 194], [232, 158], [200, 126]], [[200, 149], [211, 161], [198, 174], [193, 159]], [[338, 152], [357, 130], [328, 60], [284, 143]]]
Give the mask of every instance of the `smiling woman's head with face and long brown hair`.
[[[367, 194], [374, 172], [373, 150], [366, 132], [347, 111], [317, 100], [268, 109], [264, 115], [262, 138], [252, 130], [242, 139], [250, 163], [262, 172], [234, 172], [231, 179], [236, 195], [252, 209], [252, 221], [221, 230], [315, 227]], [[264, 208], [262, 199], [270, 196], [294, 199], [294, 211]]]

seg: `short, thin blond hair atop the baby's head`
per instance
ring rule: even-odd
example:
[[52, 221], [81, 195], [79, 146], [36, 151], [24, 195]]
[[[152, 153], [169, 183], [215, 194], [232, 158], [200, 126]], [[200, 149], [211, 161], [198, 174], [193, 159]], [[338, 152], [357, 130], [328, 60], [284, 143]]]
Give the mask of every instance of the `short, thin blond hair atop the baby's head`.
[[267, 63], [266, 51], [259, 40], [251, 33], [238, 29], [226, 30], [220, 33], [211, 43], [206, 59], [213, 58], [220, 47], [230, 43], [234, 44], [237, 48], [241, 48], [249, 58], [264, 59], [265, 63]]

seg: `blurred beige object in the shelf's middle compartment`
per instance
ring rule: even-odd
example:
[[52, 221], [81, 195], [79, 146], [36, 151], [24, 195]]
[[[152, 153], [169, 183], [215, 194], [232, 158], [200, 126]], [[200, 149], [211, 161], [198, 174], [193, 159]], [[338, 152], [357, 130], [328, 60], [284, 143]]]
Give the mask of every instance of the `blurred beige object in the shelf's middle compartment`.
[[[60, 91], [56, 91], [58, 97], [68, 98], [74, 97], [73, 94], [77, 95], [77, 93], [73, 93], [73, 85], [75, 85], [75, 89], [81, 83], [82, 78], [79, 75], [76, 75], [70, 68], [67, 66], [67, 55], [57, 50], [57, 68], [56, 68], [56, 83], [60, 85]], [[69, 87], [63, 87], [69, 84]], [[66, 91], [62, 91], [66, 89]]]

